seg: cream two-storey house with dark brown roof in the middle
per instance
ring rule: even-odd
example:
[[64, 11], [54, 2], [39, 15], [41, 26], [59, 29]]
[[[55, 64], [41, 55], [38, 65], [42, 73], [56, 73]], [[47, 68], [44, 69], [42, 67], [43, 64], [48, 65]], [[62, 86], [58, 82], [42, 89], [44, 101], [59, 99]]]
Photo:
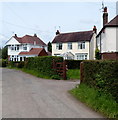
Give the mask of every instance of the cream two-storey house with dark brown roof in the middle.
[[62, 56], [64, 59], [90, 60], [95, 59], [96, 33], [93, 30], [60, 33], [52, 41], [52, 56]]

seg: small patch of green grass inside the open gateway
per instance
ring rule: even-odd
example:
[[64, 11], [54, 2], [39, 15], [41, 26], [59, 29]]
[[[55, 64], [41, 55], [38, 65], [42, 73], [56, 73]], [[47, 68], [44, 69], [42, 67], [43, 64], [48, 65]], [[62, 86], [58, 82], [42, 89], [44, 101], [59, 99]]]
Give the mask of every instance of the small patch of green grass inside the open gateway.
[[67, 71], [67, 79], [80, 79], [79, 69], [69, 69]]

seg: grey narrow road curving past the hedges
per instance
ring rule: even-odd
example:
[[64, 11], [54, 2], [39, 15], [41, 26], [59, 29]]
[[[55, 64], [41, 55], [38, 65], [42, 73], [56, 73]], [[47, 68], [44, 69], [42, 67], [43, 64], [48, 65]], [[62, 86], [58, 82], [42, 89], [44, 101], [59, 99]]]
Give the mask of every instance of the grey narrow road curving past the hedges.
[[3, 118], [102, 118], [68, 93], [79, 82], [2, 69]]

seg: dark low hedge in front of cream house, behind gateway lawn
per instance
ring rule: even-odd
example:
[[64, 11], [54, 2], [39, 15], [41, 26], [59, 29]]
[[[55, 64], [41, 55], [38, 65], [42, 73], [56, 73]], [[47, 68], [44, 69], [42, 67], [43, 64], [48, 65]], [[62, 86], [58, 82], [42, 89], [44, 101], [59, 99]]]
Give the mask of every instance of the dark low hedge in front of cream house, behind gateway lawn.
[[82, 60], [66, 60], [68, 69], [80, 69]]

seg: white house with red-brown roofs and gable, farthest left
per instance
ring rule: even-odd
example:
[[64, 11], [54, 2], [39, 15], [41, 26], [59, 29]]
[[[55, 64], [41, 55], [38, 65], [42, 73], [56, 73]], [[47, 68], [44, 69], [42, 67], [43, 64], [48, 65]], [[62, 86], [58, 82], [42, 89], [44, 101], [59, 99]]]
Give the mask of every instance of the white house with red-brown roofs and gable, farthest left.
[[16, 34], [7, 42], [8, 60], [24, 61], [25, 58], [47, 56], [47, 45], [36, 34], [18, 37]]

